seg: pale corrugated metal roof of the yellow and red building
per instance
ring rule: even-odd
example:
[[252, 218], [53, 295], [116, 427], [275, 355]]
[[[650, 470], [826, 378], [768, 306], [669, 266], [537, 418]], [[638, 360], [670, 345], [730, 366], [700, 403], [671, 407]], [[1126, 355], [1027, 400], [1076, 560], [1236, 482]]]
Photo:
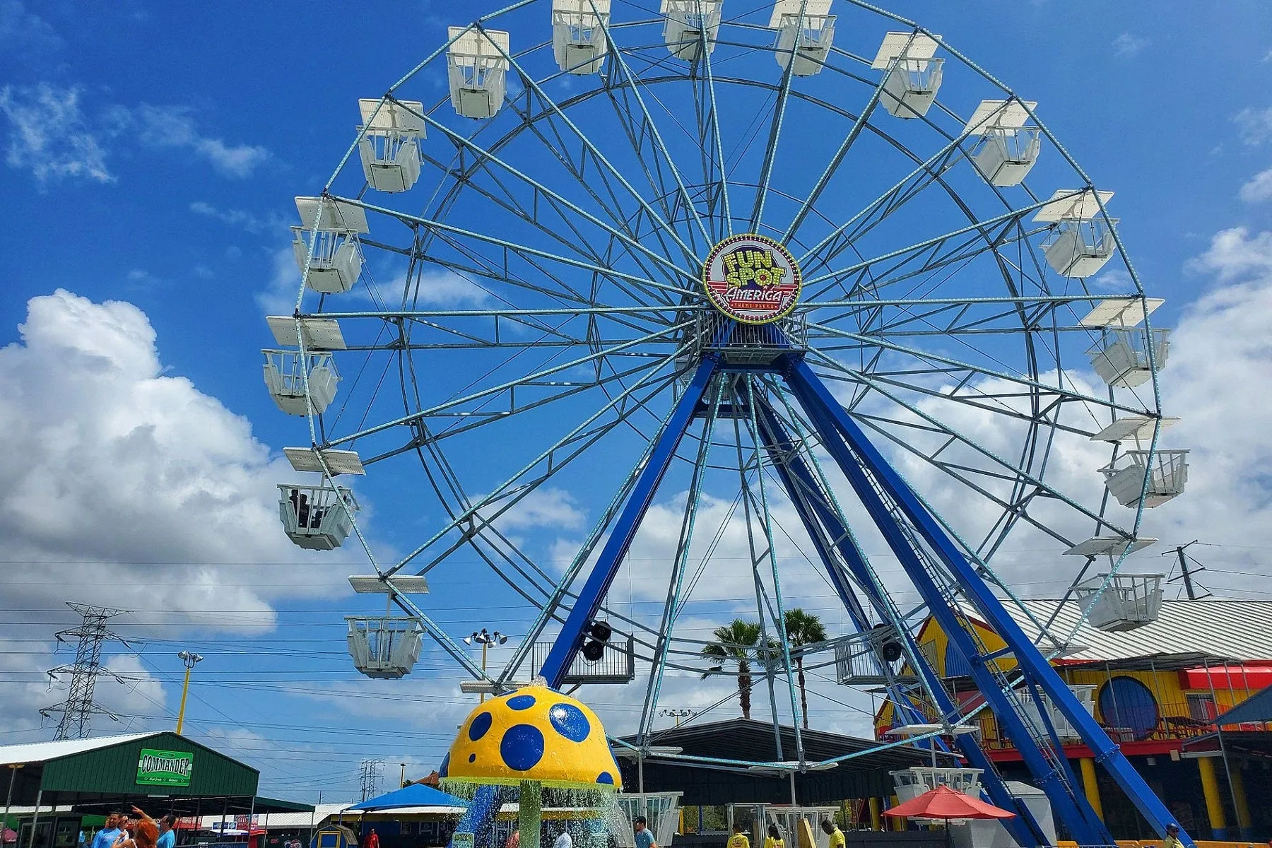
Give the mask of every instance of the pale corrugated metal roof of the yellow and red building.
[[[1067, 636], [1081, 617], [1076, 601], [1027, 600], [1024, 605], [1043, 623], [1060, 608], [1048, 628], [1057, 637]], [[1028, 636], [1038, 636], [1024, 610], [1015, 604], [1005, 606]], [[1272, 661], [1268, 622], [1272, 622], [1272, 600], [1165, 600], [1156, 622], [1133, 631], [1105, 633], [1084, 623], [1065, 660], [1099, 662], [1156, 653], [1205, 653], [1227, 660]]]

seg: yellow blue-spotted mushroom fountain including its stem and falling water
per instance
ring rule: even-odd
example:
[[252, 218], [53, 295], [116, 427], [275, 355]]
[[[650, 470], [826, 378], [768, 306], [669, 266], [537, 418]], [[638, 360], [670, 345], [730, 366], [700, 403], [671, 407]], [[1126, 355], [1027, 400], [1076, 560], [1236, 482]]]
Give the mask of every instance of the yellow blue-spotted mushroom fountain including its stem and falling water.
[[547, 685], [473, 709], [439, 777], [445, 792], [468, 802], [452, 848], [502, 848], [495, 821], [514, 804], [519, 848], [541, 848], [544, 838], [551, 844], [561, 831], [577, 848], [605, 848], [611, 833], [627, 828], [614, 804], [622, 777], [605, 728], [584, 703]]

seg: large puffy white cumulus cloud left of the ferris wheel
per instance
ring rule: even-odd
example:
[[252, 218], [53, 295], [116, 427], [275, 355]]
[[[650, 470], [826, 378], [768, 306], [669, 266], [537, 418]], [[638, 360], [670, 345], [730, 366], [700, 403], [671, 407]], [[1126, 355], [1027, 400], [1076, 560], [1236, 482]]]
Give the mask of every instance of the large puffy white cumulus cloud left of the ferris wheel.
[[[343, 591], [342, 566], [281, 533], [275, 484], [295, 472], [244, 418], [165, 371], [141, 310], [59, 290], [33, 297], [19, 329], [0, 348], [8, 608], [47, 619], [74, 600], [259, 633], [275, 599]], [[0, 641], [29, 637], [31, 615], [10, 614]], [[56, 664], [23, 657], [37, 676]], [[0, 716], [29, 718], [48, 701], [34, 694], [0, 689]]]

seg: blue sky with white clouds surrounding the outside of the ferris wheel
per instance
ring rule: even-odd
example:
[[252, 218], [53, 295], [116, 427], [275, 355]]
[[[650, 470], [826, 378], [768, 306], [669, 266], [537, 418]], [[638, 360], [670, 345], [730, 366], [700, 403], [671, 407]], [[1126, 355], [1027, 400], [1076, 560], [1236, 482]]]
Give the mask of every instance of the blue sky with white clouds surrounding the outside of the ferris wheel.
[[[640, 5], [647, 4], [616, 0], [614, 15], [645, 17]], [[268, 483], [291, 474], [281, 448], [304, 442], [303, 423], [280, 414], [262, 390], [258, 353], [270, 343], [263, 305], [294, 273], [293, 197], [317, 193], [335, 169], [352, 139], [357, 98], [383, 93], [443, 43], [446, 24], [495, 8], [463, 4], [459, 14], [449, 4], [401, 3], [355, 14], [289, 4], [0, 0], [0, 196], [9, 212], [0, 345], [11, 345], [0, 352], [10, 388], [0, 421], [19, 448], [0, 468], [38, 481], [53, 510], [45, 517], [65, 519], [46, 528], [22, 503], [8, 505], [19, 516], [17, 537], [0, 551], [9, 554], [5, 570], [20, 577], [15, 600], [0, 601], [0, 620], [10, 622], [0, 624], [0, 681], [9, 681], [0, 685], [0, 716], [13, 727], [0, 731], [0, 744], [47, 737], [34, 707], [60, 694], [42, 692], [39, 669], [62, 661], [48, 655], [53, 631], [69, 620], [62, 601], [83, 600], [151, 610], [120, 619], [140, 652], [112, 655], [128, 681], [100, 684], [106, 703], [141, 716], [127, 727], [170, 722], [179, 695], [173, 653], [193, 646], [209, 657], [196, 673], [193, 732], [261, 765], [272, 795], [312, 800], [323, 790], [346, 798], [361, 756], [383, 756], [391, 777], [394, 763], [427, 770], [440, 759], [466, 709], [453, 666], [429, 648], [426, 675], [398, 688], [364, 685], [349, 669], [340, 617], [368, 609], [341, 586], [343, 573], [365, 563], [352, 548], [326, 561], [300, 556], [259, 510], [237, 514], [235, 492], [268, 506]], [[1272, 451], [1258, 428], [1268, 406], [1233, 398], [1240, 393], [1224, 383], [1266, 385], [1272, 360], [1259, 341], [1268, 320], [1255, 309], [1272, 276], [1272, 9], [1230, 1], [1199, 14], [1182, 1], [1060, 0], [889, 8], [1038, 100], [1039, 116], [1095, 183], [1117, 192], [1112, 212], [1131, 259], [1149, 294], [1166, 297], [1155, 320], [1186, 327], [1182, 343], [1193, 345], [1180, 352], [1180, 388], [1168, 398], [1194, 408], [1168, 413], [1206, 422], [1184, 431], [1188, 446], [1208, 448], [1212, 468], [1226, 474], [1198, 497], [1250, 509], [1233, 526], [1235, 519], [1220, 524], [1205, 503], [1180, 505], [1159, 535], [1217, 545], [1198, 553], [1217, 571], [1211, 587], [1248, 591], [1266, 573], [1259, 552], [1269, 543]], [[516, 23], [528, 29], [546, 18], [541, 8], [533, 13]], [[729, 0], [726, 15], [742, 14], [743, 4]], [[546, 25], [536, 37], [544, 33]], [[878, 36], [841, 29], [838, 38], [865, 51]], [[818, 144], [808, 141], [810, 150]], [[1054, 160], [1053, 150], [1043, 155]], [[786, 167], [803, 170], [796, 159]], [[57, 290], [78, 297], [48, 299]], [[28, 301], [39, 297], [28, 318]], [[1211, 350], [1234, 357], [1233, 366], [1207, 371]], [[121, 421], [145, 439], [121, 448], [128, 431], [111, 431]], [[476, 484], [510, 472], [519, 448], [497, 441], [472, 455]], [[112, 459], [112, 450], [134, 454]], [[149, 469], [154, 477], [130, 479], [142, 454], [164, 464]], [[224, 495], [210, 507], [215, 520], [198, 510], [142, 509], [148, 487], [179, 491], [200, 475]], [[408, 549], [434, 526], [435, 509], [393, 496], [418, 479], [366, 486], [384, 551]], [[537, 556], [560, 557], [603, 509], [607, 486], [579, 479], [513, 529]], [[107, 505], [117, 500], [142, 506], [116, 514]], [[1224, 562], [1226, 573], [1215, 564]], [[490, 622], [516, 636], [528, 624], [524, 613], [506, 615], [508, 599], [476, 577], [439, 592], [439, 620], [455, 634]], [[474, 592], [488, 594], [473, 603]], [[641, 594], [628, 589], [626, 598], [639, 604]], [[591, 701], [621, 725], [631, 697], [611, 689]], [[829, 701], [818, 711], [860, 730], [860, 712], [845, 717]], [[117, 726], [102, 718], [95, 727]]]

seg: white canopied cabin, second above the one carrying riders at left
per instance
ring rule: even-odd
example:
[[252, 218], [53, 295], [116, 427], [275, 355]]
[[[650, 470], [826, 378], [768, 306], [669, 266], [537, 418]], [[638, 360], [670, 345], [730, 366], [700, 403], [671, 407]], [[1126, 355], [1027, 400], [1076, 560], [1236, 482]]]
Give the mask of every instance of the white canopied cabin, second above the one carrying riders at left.
[[305, 275], [305, 285], [328, 295], [352, 289], [363, 272], [357, 236], [370, 231], [366, 212], [360, 206], [329, 197], [298, 197], [296, 211], [300, 226], [291, 228], [291, 249], [296, 267]]

